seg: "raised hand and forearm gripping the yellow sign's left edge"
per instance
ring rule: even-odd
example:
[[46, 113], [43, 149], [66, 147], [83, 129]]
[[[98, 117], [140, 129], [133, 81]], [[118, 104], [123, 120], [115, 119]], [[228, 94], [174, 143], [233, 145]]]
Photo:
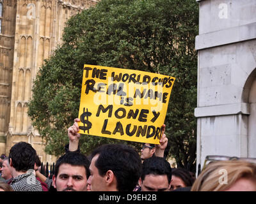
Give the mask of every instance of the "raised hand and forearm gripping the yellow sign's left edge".
[[70, 126], [68, 128], [68, 138], [69, 138], [68, 150], [70, 152], [74, 152], [79, 149], [78, 148], [79, 147], [79, 139], [80, 139], [81, 135], [80, 135], [80, 133], [78, 133], [79, 126], [78, 126], [77, 122], [80, 122], [80, 119], [78, 119], [78, 118], [74, 119], [73, 126]]

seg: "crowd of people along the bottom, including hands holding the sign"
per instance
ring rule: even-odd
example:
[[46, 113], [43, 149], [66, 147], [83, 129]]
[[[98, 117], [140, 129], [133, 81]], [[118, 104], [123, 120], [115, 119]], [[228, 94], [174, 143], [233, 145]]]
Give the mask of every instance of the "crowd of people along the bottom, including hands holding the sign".
[[26, 142], [0, 157], [0, 191], [256, 191], [253, 159], [212, 161], [195, 178], [166, 160], [168, 139], [162, 128], [159, 145], [143, 143], [140, 154], [124, 144], [106, 144], [85, 156], [79, 150], [79, 119], [68, 128], [65, 154], [52, 179], [40, 173], [36, 150]]

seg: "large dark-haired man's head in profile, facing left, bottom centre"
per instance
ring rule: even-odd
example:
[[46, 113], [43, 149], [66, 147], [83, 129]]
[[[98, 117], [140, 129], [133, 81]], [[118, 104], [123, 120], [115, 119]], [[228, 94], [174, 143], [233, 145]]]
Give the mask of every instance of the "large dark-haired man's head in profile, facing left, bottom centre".
[[92, 191], [132, 191], [140, 179], [141, 159], [127, 145], [102, 145], [92, 152], [90, 173]]

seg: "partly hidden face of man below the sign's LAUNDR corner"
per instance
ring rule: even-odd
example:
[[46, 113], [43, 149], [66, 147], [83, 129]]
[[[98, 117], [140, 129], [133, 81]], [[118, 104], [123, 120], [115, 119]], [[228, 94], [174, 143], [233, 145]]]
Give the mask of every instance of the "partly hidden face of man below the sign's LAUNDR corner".
[[168, 191], [167, 175], [149, 174], [145, 176], [143, 181], [140, 181], [141, 191]]

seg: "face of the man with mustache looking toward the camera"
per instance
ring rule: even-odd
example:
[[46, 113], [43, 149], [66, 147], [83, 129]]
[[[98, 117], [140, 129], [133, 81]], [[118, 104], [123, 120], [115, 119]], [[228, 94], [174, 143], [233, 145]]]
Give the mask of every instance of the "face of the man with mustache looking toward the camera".
[[57, 191], [86, 191], [86, 170], [84, 166], [61, 164], [58, 176], [52, 177]]

